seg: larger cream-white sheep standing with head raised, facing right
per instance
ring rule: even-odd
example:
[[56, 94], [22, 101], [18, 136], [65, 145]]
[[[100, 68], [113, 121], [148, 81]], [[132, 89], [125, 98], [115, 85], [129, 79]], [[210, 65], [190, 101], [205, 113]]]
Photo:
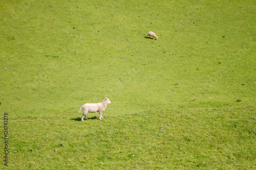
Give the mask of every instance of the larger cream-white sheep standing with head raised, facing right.
[[82, 107], [79, 109], [78, 113], [80, 113], [82, 109], [82, 121], [83, 121], [83, 116], [87, 118], [87, 113], [91, 112], [99, 112], [99, 119], [103, 118], [102, 112], [106, 109], [106, 105], [110, 104], [110, 100], [108, 98], [104, 99], [101, 103], [86, 103], [82, 105]]

